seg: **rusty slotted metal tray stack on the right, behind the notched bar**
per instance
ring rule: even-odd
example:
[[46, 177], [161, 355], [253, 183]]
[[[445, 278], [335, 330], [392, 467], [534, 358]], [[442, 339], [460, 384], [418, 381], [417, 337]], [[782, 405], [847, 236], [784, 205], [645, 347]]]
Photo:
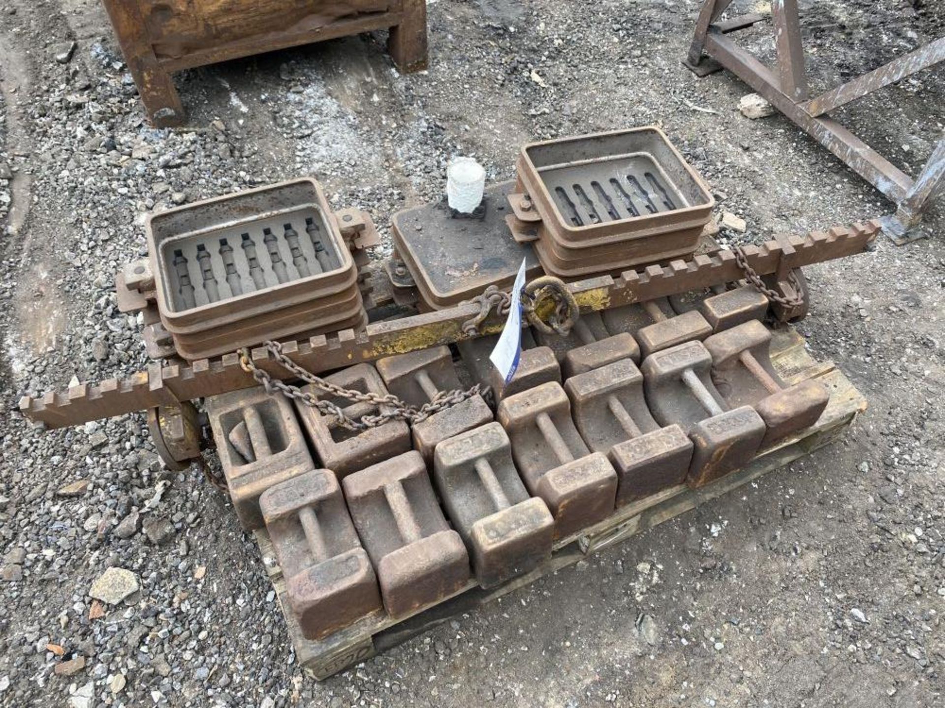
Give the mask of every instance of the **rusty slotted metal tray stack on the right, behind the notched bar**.
[[714, 199], [658, 127], [526, 144], [517, 162], [516, 239], [562, 278], [695, 252]]

